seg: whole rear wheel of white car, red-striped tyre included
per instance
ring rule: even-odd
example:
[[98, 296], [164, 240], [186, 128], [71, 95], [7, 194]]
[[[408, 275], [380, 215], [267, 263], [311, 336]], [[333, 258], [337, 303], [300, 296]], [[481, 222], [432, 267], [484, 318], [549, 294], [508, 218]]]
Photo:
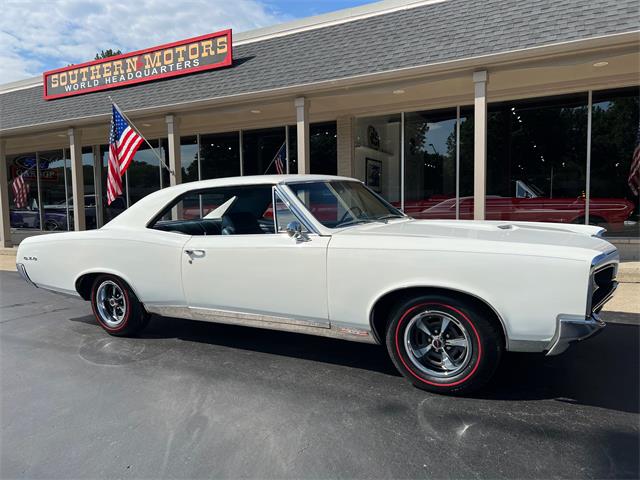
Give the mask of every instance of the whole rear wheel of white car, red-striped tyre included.
[[149, 314], [131, 287], [114, 275], [96, 278], [91, 307], [100, 326], [111, 335], [135, 335], [149, 323]]

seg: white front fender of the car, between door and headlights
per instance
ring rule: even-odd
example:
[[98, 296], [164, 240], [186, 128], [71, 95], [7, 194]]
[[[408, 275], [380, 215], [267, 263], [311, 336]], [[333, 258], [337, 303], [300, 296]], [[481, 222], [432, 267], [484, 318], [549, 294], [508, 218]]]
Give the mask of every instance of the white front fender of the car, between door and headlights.
[[331, 321], [369, 328], [375, 302], [407, 287], [447, 288], [484, 300], [501, 317], [509, 340], [549, 341], [559, 314], [585, 314], [589, 262], [584, 259], [514, 247], [496, 252], [479, 241], [476, 251], [457, 240], [420, 243], [335, 235], [327, 266]]

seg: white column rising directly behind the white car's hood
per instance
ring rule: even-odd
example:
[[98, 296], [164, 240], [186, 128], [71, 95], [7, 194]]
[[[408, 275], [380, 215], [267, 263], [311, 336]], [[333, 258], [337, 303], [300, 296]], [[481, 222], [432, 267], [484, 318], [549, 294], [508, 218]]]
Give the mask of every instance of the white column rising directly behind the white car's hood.
[[473, 218], [485, 219], [487, 191], [487, 71], [473, 72]]

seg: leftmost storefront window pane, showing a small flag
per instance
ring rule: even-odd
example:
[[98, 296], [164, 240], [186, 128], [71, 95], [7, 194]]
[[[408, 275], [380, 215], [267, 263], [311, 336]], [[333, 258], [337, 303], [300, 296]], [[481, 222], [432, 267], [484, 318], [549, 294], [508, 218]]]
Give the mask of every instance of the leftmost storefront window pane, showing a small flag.
[[7, 156], [9, 216], [12, 228], [40, 228], [36, 154]]

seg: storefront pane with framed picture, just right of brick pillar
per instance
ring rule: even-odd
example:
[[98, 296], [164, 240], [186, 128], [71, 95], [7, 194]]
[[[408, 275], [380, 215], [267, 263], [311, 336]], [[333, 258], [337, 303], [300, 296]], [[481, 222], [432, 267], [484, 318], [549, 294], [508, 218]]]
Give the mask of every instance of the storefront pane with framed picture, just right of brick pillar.
[[400, 207], [399, 114], [356, 120], [353, 172], [373, 191]]

